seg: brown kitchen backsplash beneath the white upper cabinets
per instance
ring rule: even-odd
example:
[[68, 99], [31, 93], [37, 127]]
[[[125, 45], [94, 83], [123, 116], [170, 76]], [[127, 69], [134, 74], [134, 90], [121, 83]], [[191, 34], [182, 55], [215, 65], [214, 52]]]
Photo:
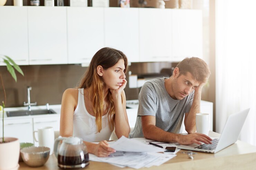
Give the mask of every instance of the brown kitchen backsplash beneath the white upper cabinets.
[[[145, 62], [131, 63], [128, 71], [132, 74], [159, 73], [163, 68], [171, 68], [175, 63]], [[30, 65], [20, 66], [24, 77], [17, 73], [17, 83], [11, 78], [6, 66], [0, 66], [4, 86], [6, 88], [6, 107], [21, 107], [27, 102], [27, 86], [31, 86], [30, 101], [37, 105], [61, 104], [62, 94], [67, 88], [74, 88], [81, 79], [87, 67], [80, 64], [59, 65]], [[126, 74], [128, 81], [128, 72]], [[129, 82], [128, 82], [129, 83]], [[126, 99], [138, 99], [139, 88], [125, 88]], [[2, 86], [0, 86], [0, 101], [3, 100]]]

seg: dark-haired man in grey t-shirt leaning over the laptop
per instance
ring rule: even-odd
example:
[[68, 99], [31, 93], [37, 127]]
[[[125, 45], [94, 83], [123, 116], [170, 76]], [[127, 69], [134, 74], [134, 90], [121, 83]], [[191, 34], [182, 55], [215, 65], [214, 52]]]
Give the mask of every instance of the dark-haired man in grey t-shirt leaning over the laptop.
[[[200, 113], [203, 85], [210, 70], [199, 58], [185, 58], [173, 71], [173, 75], [147, 81], [139, 93], [139, 107], [134, 130], [130, 138], [192, 144], [209, 144], [211, 138], [194, 133], [195, 114]], [[181, 135], [183, 117], [188, 135]]]

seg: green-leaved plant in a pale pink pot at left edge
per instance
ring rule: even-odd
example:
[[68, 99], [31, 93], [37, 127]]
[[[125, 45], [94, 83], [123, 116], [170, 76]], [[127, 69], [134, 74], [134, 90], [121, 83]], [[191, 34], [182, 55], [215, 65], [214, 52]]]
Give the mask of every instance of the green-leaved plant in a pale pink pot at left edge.
[[[17, 82], [15, 70], [24, 76], [20, 67], [8, 56], [1, 56], [0, 59], [6, 64], [7, 70]], [[1, 62], [1, 61], [0, 61]], [[2, 101], [2, 123], [3, 123], [3, 136], [0, 138], [0, 170], [18, 168], [20, 143], [17, 138], [4, 137], [4, 107], [6, 104], [6, 92], [3, 84], [2, 74], [0, 72], [0, 81], [3, 88], [4, 100]]]

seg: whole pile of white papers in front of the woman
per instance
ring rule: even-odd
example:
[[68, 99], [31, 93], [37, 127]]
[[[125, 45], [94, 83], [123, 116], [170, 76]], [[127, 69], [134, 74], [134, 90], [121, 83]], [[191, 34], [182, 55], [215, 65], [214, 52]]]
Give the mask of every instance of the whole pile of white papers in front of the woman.
[[156, 153], [163, 152], [165, 149], [153, 147], [136, 139], [128, 139], [126, 137], [121, 137], [116, 142], [111, 142], [110, 147], [117, 152], [104, 158], [90, 154], [90, 160], [107, 162], [118, 167], [139, 169], [154, 165], [159, 166], [176, 156], [176, 154]]

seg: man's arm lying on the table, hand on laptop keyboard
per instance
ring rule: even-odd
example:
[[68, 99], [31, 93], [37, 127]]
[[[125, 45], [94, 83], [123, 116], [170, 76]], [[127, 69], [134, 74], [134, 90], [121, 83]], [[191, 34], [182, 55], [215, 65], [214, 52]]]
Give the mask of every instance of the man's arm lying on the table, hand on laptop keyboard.
[[201, 133], [192, 133], [181, 135], [176, 133], [166, 132], [156, 127], [156, 118], [154, 116], [141, 116], [142, 131], [145, 138], [162, 141], [162, 142], [177, 142], [180, 144], [192, 144], [201, 142], [209, 144], [211, 138]]

